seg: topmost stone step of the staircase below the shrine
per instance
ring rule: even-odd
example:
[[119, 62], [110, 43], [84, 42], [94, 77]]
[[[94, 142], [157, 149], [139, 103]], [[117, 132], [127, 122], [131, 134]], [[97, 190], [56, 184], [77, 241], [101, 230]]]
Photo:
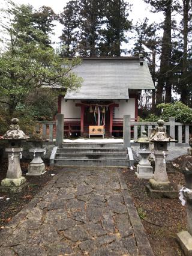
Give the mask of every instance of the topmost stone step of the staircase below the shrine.
[[122, 149], [123, 144], [121, 143], [64, 143], [63, 148], [119, 148]]

